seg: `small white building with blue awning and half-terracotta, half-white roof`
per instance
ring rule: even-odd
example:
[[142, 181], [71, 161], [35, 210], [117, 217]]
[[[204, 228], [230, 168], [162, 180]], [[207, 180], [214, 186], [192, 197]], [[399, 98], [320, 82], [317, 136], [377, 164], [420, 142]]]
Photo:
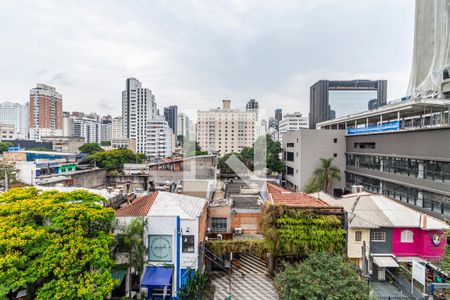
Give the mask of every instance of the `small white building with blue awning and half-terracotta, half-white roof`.
[[148, 263], [140, 285], [146, 289], [148, 299], [158, 289], [166, 289], [174, 297], [186, 285], [188, 269], [203, 270], [206, 199], [154, 192], [119, 209], [116, 216], [119, 224], [128, 224], [133, 218], [147, 222], [144, 244]]

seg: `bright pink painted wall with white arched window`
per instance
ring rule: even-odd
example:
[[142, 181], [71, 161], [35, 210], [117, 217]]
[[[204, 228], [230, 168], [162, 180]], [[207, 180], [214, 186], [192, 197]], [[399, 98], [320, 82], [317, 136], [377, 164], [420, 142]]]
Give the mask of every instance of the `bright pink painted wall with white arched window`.
[[[411, 230], [413, 235], [412, 243], [401, 242], [401, 232]], [[395, 256], [420, 256], [423, 258], [436, 259], [444, 255], [446, 240], [441, 239], [439, 245], [433, 244], [433, 234], [443, 235], [442, 230], [422, 230], [420, 228], [393, 228], [392, 229], [392, 254]]]

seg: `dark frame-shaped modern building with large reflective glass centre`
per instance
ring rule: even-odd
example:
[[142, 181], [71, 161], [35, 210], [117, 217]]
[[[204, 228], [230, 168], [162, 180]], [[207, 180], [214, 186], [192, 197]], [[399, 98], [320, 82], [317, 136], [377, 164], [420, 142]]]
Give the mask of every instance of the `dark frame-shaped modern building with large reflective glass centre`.
[[[386, 104], [386, 97], [386, 80], [319, 80], [310, 88], [309, 128], [315, 129], [317, 123], [366, 111], [373, 99], [377, 99], [377, 107], [381, 107]], [[371, 105], [374, 105], [373, 101]]]

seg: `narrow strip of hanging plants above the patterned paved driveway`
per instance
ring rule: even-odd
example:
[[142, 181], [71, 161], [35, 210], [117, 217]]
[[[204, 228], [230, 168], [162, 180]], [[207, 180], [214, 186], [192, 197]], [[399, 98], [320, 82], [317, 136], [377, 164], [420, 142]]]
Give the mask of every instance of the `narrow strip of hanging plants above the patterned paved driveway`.
[[253, 253], [264, 256], [268, 252], [265, 241], [256, 239], [208, 240], [205, 241], [205, 246], [217, 256], [230, 252]]

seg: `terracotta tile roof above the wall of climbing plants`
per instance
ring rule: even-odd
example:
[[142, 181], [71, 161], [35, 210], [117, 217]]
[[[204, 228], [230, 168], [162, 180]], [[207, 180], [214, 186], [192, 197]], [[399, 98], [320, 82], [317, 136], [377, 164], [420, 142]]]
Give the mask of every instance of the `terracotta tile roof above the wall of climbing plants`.
[[305, 193], [291, 192], [274, 183], [267, 183], [267, 190], [272, 197], [273, 204], [298, 207], [329, 207], [330, 205], [316, 197]]

